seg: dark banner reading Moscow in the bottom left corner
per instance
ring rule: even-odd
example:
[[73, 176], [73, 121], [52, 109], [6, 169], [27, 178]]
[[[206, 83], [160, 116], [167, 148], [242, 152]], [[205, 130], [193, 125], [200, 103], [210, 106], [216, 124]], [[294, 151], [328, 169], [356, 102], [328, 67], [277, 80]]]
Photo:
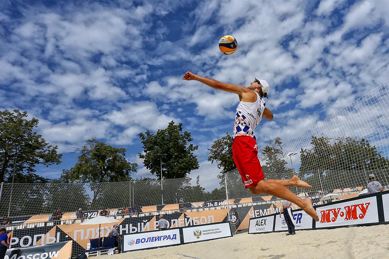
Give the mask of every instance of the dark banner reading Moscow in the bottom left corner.
[[5, 259], [20, 258], [58, 258], [69, 259], [72, 256], [72, 241], [64, 243], [54, 243], [47, 245], [37, 245], [35, 247], [8, 249]]

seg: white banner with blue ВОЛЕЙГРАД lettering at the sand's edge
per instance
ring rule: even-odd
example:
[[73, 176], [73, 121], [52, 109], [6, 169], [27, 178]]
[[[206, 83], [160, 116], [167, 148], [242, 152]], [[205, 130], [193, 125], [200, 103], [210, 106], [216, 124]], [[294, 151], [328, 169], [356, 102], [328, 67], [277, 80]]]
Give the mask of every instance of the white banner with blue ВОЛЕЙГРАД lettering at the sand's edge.
[[179, 229], [128, 234], [123, 236], [123, 252], [179, 245], [180, 243]]

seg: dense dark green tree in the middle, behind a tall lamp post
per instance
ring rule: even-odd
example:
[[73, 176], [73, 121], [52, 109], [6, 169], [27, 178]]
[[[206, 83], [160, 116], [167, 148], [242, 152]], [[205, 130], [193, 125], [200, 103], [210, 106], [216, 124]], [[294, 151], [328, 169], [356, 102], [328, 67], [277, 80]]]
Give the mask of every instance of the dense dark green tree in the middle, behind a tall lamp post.
[[142, 140], [144, 154], [139, 153], [143, 159], [144, 166], [150, 172], [161, 179], [162, 156], [162, 175], [166, 179], [175, 179], [186, 177], [192, 170], [200, 167], [197, 156], [193, 154], [198, 146], [188, 144], [193, 141], [191, 133], [182, 131], [182, 123], [175, 125], [174, 121], [169, 122], [166, 129], [158, 129], [157, 133], [151, 134], [150, 131], [139, 133]]

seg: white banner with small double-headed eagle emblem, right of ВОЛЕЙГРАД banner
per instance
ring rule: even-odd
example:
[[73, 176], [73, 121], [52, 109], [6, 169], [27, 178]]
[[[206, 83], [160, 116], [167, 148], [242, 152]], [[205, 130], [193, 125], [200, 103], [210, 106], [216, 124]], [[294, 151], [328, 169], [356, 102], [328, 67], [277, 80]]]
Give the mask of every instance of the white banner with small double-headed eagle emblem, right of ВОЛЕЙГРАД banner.
[[230, 224], [228, 222], [183, 228], [182, 233], [184, 234], [184, 243], [232, 236]]

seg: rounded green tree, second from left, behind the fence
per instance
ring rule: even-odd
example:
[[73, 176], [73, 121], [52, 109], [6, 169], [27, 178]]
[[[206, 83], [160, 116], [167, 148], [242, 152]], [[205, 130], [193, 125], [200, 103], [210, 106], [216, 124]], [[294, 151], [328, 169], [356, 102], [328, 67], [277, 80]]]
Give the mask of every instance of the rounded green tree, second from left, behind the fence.
[[76, 149], [81, 152], [70, 170], [63, 170], [62, 178], [82, 182], [124, 182], [130, 180], [131, 172], [137, 172], [137, 163], [128, 162], [126, 149], [112, 147], [96, 138]]

